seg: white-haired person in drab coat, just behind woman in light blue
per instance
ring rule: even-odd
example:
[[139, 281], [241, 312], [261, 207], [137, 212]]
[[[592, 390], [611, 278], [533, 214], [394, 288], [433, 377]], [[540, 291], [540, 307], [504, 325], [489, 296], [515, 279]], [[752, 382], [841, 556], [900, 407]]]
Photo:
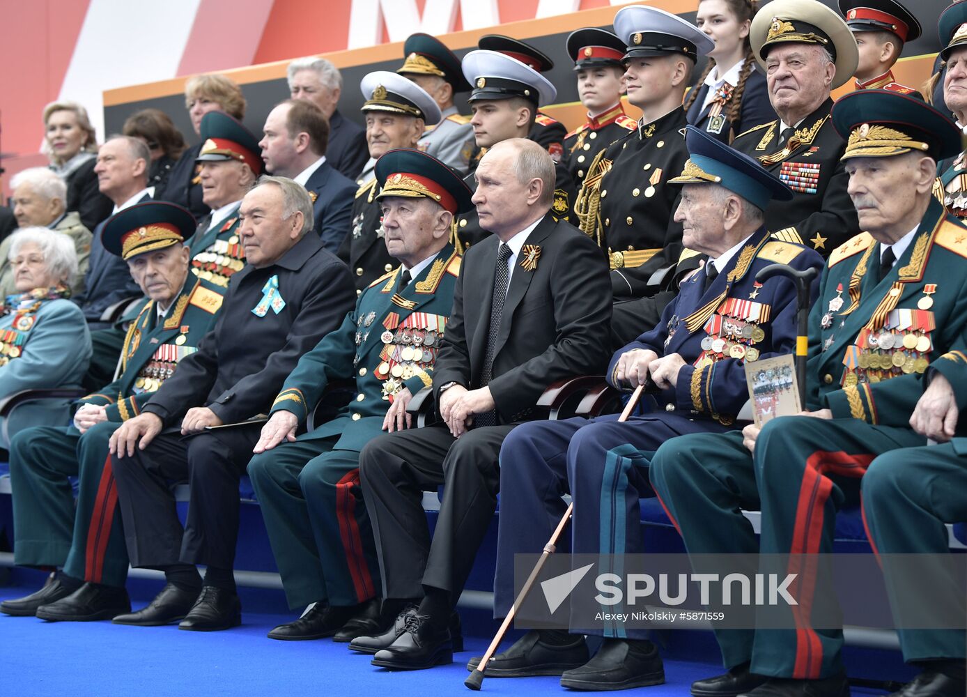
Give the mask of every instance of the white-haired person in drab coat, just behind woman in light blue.
[[[70, 286], [80, 292], [91, 254], [91, 231], [80, 222], [76, 211], [67, 210], [67, 184], [47, 167], [31, 167], [17, 172], [11, 186], [17, 227], [49, 227], [73, 240], [77, 271]], [[0, 295], [4, 297], [15, 292], [14, 269], [8, 260], [10, 244], [10, 237], [0, 243]]]

